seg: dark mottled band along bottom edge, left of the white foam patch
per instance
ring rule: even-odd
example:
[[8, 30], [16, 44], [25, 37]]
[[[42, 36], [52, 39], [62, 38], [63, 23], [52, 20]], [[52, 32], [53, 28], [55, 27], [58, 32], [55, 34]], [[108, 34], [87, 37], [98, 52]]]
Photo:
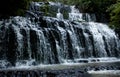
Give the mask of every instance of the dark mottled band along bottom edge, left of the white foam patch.
[[88, 73], [74, 70], [14, 70], [0, 71], [0, 77], [90, 77]]

